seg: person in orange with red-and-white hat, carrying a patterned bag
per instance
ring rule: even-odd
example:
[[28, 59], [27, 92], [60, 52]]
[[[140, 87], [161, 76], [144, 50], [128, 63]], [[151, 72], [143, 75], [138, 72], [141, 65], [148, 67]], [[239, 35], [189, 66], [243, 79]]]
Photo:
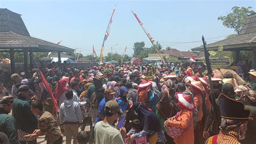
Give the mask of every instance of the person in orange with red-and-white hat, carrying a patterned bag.
[[194, 128], [193, 128], [193, 109], [194, 105], [191, 100], [191, 95], [183, 94], [181, 92], [176, 93], [178, 99], [178, 106], [180, 112], [178, 112], [172, 118], [165, 121], [164, 127], [167, 131], [168, 127], [179, 127], [184, 129], [183, 133], [173, 138], [176, 144], [193, 144], [194, 143]]

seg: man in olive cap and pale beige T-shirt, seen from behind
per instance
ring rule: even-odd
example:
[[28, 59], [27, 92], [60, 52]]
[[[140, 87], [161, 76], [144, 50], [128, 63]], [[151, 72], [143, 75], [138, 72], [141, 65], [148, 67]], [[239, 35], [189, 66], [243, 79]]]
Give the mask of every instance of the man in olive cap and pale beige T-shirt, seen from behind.
[[124, 137], [126, 135], [125, 128], [118, 129], [114, 128], [112, 124], [117, 120], [122, 110], [119, 109], [119, 104], [116, 101], [107, 101], [105, 105], [105, 119], [97, 122], [95, 125], [95, 143], [105, 144], [122, 144], [124, 143]]

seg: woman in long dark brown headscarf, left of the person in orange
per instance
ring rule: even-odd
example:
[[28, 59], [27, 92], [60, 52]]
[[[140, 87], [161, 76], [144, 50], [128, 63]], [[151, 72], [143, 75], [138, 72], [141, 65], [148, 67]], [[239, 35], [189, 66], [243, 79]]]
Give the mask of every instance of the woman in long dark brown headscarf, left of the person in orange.
[[179, 108], [176, 106], [174, 101], [171, 101], [168, 97], [167, 91], [161, 91], [159, 102], [156, 106], [156, 115], [159, 118], [161, 129], [163, 129], [166, 143], [174, 143], [171, 136], [167, 135], [165, 128], [164, 128], [164, 122], [171, 118], [172, 116], [176, 115], [176, 113], [179, 111]]

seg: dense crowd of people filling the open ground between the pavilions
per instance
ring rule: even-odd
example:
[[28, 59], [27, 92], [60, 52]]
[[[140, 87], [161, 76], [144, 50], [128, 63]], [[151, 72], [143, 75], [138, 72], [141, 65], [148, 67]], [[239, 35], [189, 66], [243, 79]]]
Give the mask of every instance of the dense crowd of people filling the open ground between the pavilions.
[[65, 143], [256, 143], [254, 70], [242, 84], [215, 74], [212, 91], [205, 68], [192, 63], [40, 70], [30, 79], [12, 74], [11, 96], [0, 83], [0, 143], [37, 143], [42, 135], [47, 143], [64, 136]]

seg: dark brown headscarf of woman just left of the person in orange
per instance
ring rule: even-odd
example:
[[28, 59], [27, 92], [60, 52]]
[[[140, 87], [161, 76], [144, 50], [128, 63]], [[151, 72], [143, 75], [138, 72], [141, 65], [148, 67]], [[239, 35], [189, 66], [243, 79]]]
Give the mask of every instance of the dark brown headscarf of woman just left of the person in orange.
[[159, 114], [165, 120], [171, 118], [177, 113], [176, 109], [174, 108], [173, 102], [171, 102], [168, 97], [167, 91], [161, 91], [156, 108], [158, 109]]

